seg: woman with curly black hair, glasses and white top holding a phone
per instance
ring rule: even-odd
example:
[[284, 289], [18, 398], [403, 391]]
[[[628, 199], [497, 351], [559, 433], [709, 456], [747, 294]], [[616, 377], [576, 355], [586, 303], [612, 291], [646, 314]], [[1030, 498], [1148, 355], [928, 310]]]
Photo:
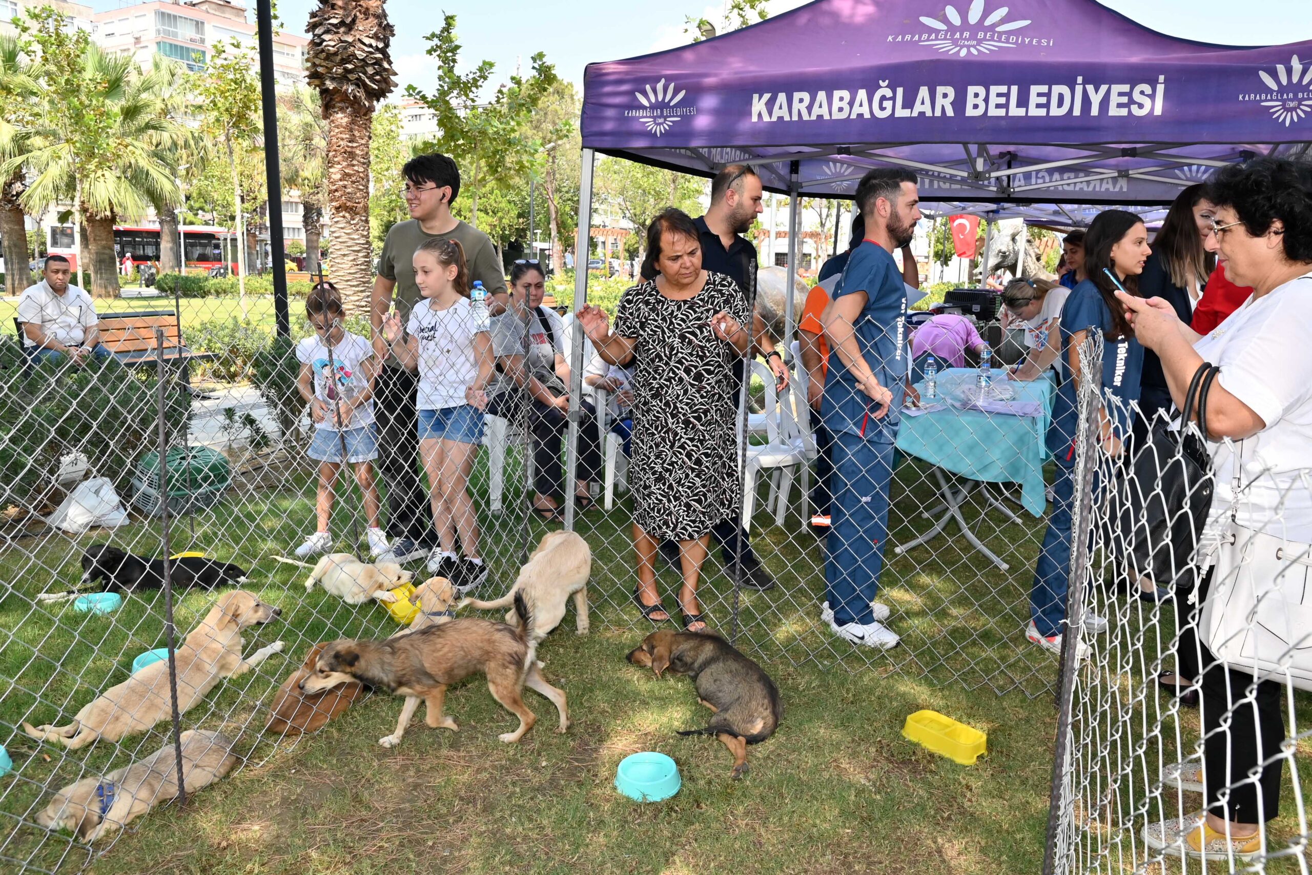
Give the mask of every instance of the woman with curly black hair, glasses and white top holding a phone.
[[[1233, 575], [1250, 565], [1250, 585], [1265, 593], [1265, 605], [1242, 622], [1253, 635], [1258, 623], [1283, 626], [1278, 638], [1288, 643], [1267, 636], [1249, 645], [1266, 660], [1292, 657], [1298, 669], [1299, 648], [1312, 635], [1308, 605], [1296, 603], [1312, 551], [1312, 167], [1270, 157], [1227, 165], [1212, 177], [1207, 198], [1215, 206], [1210, 234], [1227, 275], [1252, 286], [1252, 296], [1208, 335], [1190, 329], [1160, 298], [1123, 303], [1135, 336], [1161, 358], [1176, 407], [1183, 407], [1203, 362], [1220, 367], [1207, 396], [1215, 492], [1202, 546], [1211, 552], [1233, 535], [1232, 543], [1252, 548], [1239, 567], [1227, 554], [1228, 568], [1207, 572], [1198, 607], [1206, 610], [1208, 596], [1223, 597], [1212, 592], [1223, 581], [1228, 590], [1246, 589]], [[1271, 540], [1282, 546], [1270, 550]], [[1214, 581], [1212, 575], [1221, 576]], [[1283, 586], [1267, 575], [1281, 575]], [[1263, 837], [1262, 824], [1279, 816], [1284, 761], [1298, 754], [1284, 729], [1288, 676], [1218, 661], [1210, 645], [1233, 643], [1232, 619], [1221, 618], [1227, 628], [1218, 640], [1199, 643], [1202, 762], [1173, 763], [1161, 775], [1172, 795], [1202, 791], [1204, 809], [1144, 830], [1148, 846], [1165, 854], [1249, 861], [1278, 847]]]

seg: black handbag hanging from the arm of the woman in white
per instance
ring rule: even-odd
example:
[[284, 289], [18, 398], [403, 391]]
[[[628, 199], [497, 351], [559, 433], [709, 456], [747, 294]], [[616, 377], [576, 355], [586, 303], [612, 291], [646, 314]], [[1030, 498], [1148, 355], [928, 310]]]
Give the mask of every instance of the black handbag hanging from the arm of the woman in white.
[[[1198, 538], [1212, 506], [1215, 481], [1207, 434], [1207, 394], [1220, 367], [1203, 362], [1185, 396], [1181, 428], [1160, 422], [1152, 439], [1128, 459], [1119, 483], [1119, 514], [1111, 542], [1131, 580], [1148, 577], [1174, 588], [1194, 564]], [[1189, 428], [1198, 399], [1198, 430]]]

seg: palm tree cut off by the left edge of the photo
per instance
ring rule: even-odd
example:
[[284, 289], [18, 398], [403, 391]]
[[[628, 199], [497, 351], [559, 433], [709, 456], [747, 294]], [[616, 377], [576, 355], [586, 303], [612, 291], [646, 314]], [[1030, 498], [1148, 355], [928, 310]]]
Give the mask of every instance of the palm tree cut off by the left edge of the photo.
[[[14, 37], [0, 37], [0, 161], [22, 153], [25, 135], [20, 126], [35, 117], [39, 88], [31, 77], [31, 67], [24, 58]], [[4, 249], [5, 294], [16, 295], [28, 285], [28, 228], [20, 198], [26, 186], [25, 167], [17, 167], [0, 176], [0, 240]]]

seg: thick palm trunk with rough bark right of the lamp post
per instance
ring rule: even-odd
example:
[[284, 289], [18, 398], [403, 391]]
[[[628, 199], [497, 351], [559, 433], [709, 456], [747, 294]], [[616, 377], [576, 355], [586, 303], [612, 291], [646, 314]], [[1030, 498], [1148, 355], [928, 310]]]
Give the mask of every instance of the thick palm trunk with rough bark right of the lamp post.
[[311, 88], [328, 122], [328, 207], [333, 279], [348, 308], [369, 312], [369, 139], [374, 106], [396, 88], [392, 34], [383, 0], [319, 0], [306, 52]]

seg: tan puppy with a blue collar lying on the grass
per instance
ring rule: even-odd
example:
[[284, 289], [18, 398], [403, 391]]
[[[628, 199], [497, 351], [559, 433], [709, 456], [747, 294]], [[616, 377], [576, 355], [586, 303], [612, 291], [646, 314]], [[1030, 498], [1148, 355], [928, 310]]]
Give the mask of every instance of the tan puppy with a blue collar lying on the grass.
[[[205, 729], [182, 733], [182, 786], [188, 796], [232, 771], [236, 763], [232, 743], [223, 733]], [[37, 823], [46, 829], [72, 830], [81, 841], [93, 842], [169, 799], [177, 799], [172, 741], [140, 762], [68, 784], [37, 815]]]

